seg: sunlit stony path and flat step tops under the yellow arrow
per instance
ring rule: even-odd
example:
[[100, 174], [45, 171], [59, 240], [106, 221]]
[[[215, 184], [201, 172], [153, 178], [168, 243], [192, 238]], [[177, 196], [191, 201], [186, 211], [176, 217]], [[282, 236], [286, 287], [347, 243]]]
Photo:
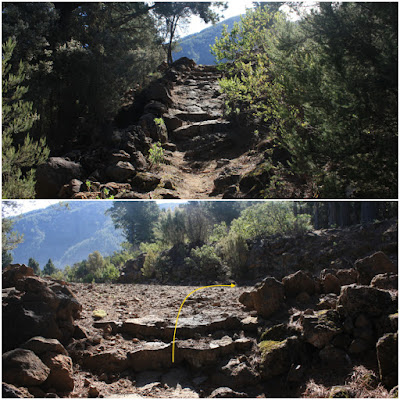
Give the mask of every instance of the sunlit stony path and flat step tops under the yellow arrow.
[[[185, 297], [198, 287], [200, 285], [71, 284], [72, 291], [83, 305], [82, 318], [78, 323], [86, 330], [90, 341], [98, 338], [89, 348], [84, 349], [85, 357], [96, 359], [98, 354], [103, 354], [108, 363], [117, 362], [122, 357], [123, 360], [128, 359], [134, 365], [139, 365], [143, 362], [142, 352], [154, 351], [154, 357], [159, 363], [168, 364], [161, 370], [141, 371], [134, 367], [133, 371], [128, 369], [106, 373], [82, 371], [74, 365], [75, 389], [71, 396], [88, 397], [89, 388], [95, 387], [104, 397], [198, 398], [196, 387], [205, 378], [200, 371], [197, 375], [196, 370], [189, 373], [186, 364], [178, 361], [186, 360], [185, 363], [194, 365], [198, 356], [193, 352], [203, 351], [200, 362], [206, 365], [210, 359], [218, 361], [225, 354], [239, 349], [241, 341], [237, 345], [231, 337], [215, 329], [194, 338], [180, 336], [180, 333], [184, 329], [199, 326], [206, 330], [213, 323], [231, 324], [232, 318], [240, 323], [248, 317], [248, 311], [238, 302], [238, 298], [243, 291], [250, 290], [250, 287], [242, 286], [215, 287], [193, 293], [186, 300], [179, 316], [175, 348], [177, 363], [170, 365], [172, 334], [179, 307]], [[95, 320], [92, 313], [99, 309], [107, 315]], [[171, 334], [168, 338], [138, 338], [119, 332], [124, 323], [167, 328]], [[119, 333], [113, 332], [113, 329]], [[105, 332], [109, 332], [109, 335]], [[147, 356], [143, 360], [147, 361]], [[104, 362], [100, 359], [98, 361]]]

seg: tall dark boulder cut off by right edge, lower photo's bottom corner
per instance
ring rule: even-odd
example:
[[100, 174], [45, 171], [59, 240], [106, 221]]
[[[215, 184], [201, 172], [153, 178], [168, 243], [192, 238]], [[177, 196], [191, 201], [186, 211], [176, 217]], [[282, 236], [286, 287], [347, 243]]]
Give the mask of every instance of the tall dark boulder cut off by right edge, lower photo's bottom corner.
[[398, 344], [397, 332], [387, 333], [376, 344], [379, 376], [384, 385], [391, 389], [398, 385]]

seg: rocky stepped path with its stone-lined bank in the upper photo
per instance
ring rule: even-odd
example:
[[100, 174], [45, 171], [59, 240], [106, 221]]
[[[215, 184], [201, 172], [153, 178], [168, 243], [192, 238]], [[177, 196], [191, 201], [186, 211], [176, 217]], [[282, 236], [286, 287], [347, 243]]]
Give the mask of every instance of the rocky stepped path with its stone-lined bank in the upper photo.
[[[264, 157], [250, 150], [252, 135], [224, 118], [220, 77], [215, 66], [186, 58], [164, 67], [94, 145], [71, 147], [38, 167], [37, 197], [259, 197]], [[151, 165], [157, 142], [164, 163]]]

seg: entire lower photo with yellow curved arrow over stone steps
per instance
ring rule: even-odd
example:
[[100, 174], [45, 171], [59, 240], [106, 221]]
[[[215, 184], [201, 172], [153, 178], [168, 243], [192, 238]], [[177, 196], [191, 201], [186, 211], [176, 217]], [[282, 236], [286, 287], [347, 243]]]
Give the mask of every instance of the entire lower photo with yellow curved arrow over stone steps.
[[397, 201], [2, 201], [3, 397], [397, 397], [397, 219]]

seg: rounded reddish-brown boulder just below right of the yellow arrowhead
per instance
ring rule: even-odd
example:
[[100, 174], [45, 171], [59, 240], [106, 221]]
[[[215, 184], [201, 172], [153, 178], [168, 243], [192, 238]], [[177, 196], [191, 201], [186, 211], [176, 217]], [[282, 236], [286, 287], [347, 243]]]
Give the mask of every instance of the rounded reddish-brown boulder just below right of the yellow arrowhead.
[[283, 285], [275, 278], [267, 277], [255, 286], [251, 298], [257, 313], [268, 318], [282, 307], [285, 299]]

